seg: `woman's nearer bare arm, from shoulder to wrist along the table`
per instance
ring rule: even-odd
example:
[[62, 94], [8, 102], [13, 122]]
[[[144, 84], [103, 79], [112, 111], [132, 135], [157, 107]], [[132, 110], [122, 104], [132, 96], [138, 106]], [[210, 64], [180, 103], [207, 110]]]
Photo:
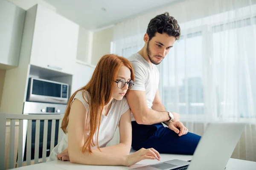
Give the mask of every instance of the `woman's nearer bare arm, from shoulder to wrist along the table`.
[[113, 154], [102, 153], [93, 150], [89, 153], [88, 149], [82, 153], [81, 148], [86, 141], [85, 124], [87, 111], [84, 105], [78, 99], [75, 99], [71, 105], [69, 123], [68, 123], [68, 153], [70, 161], [80, 164], [95, 165], [121, 165], [124, 164], [124, 158]]

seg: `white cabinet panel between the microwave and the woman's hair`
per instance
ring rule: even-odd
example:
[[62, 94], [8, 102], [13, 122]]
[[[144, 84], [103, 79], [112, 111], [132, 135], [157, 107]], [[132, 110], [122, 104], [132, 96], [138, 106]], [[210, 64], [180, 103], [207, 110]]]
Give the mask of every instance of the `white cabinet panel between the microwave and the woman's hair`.
[[89, 82], [94, 69], [95, 68], [90, 65], [83, 65], [80, 63], [75, 64], [74, 74], [72, 77], [71, 95]]

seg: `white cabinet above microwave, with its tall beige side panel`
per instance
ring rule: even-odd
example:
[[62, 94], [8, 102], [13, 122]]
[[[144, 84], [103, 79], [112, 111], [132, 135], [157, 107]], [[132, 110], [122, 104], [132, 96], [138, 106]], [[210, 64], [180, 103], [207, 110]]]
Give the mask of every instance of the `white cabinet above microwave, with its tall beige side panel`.
[[[23, 27], [18, 67], [6, 71], [0, 112], [23, 113], [31, 69], [34, 69], [33, 72], [40, 78], [54, 75], [66, 76], [71, 85], [72, 80], [69, 78], [73, 77], [76, 67], [78, 34], [79, 26], [76, 23], [61, 17], [54, 11], [41, 5], [28, 9]], [[57, 79], [57, 77], [52, 79]], [[13, 107], [14, 104], [15, 107]]]

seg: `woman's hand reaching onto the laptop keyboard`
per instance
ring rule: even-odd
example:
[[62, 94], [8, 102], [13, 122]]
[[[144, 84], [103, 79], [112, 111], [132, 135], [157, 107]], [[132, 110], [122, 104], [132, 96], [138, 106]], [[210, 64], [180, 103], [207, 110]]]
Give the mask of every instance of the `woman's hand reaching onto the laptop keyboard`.
[[131, 166], [144, 159], [157, 159], [160, 161], [160, 154], [154, 148], [141, 148], [137, 152], [125, 156], [124, 165]]

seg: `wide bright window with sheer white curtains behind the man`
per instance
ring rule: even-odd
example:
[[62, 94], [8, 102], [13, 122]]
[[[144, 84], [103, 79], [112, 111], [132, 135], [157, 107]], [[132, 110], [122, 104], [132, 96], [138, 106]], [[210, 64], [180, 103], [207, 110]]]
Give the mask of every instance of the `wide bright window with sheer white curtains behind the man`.
[[[157, 65], [166, 110], [202, 119], [256, 118], [256, 17], [232, 14], [198, 19], [197, 28], [189, 21], [190, 28], [182, 30], [183, 36]], [[114, 45], [117, 54], [129, 57], [143, 47], [143, 34]]]

